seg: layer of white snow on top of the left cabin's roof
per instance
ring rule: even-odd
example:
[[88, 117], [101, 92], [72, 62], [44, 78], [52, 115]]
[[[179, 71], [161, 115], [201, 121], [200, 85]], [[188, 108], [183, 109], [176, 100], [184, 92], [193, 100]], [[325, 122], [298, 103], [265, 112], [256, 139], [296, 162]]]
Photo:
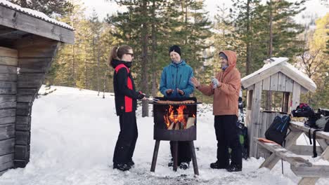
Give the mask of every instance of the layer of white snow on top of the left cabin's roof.
[[65, 27], [67, 29], [74, 30], [73, 27], [71, 27], [70, 25], [67, 25], [65, 22], [60, 22], [58, 20], [49, 18], [46, 14], [41, 13], [39, 11], [34, 11], [30, 8], [22, 8], [22, 7], [20, 7], [16, 4], [12, 4], [11, 2], [6, 1], [6, 0], [0, 0], [0, 5], [6, 6], [7, 8], [11, 8], [15, 11], [20, 11], [21, 13], [26, 13], [27, 15], [31, 15], [34, 18], [39, 18], [39, 19], [44, 20], [46, 22], [51, 22], [51, 23], [53, 23], [55, 25], [58, 25], [60, 27]]

